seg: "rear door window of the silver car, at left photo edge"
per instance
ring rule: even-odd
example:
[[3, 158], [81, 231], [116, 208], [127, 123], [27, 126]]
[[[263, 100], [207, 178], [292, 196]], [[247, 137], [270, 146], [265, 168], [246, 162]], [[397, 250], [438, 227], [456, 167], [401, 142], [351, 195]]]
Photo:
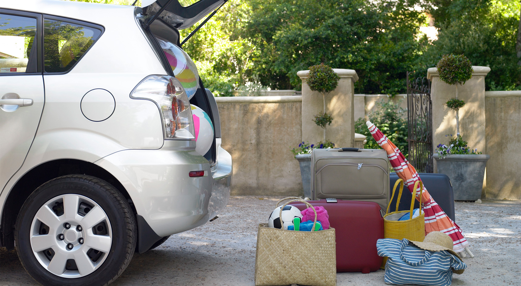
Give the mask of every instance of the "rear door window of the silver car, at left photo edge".
[[[30, 67], [36, 19], [0, 14], [0, 72], [32, 72]], [[36, 45], [34, 45], [36, 49]], [[36, 56], [34, 53], [33, 57]], [[28, 68], [29, 66], [29, 68]]]

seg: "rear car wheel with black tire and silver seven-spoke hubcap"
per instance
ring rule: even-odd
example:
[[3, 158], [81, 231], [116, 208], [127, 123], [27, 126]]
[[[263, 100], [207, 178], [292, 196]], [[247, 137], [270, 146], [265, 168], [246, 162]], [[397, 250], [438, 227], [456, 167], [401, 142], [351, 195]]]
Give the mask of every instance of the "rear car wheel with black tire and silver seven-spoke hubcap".
[[27, 198], [15, 242], [29, 275], [45, 286], [114, 281], [130, 263], [136, 222], [126, 198], [91, 176], [55, 178]]

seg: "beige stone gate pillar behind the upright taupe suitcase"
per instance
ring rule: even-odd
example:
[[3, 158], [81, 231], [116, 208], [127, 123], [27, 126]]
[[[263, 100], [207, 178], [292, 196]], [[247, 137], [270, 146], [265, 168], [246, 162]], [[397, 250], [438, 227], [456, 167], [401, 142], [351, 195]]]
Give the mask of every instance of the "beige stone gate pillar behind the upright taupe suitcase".
[[[353, 147], [354, 128], [354, 83], [358, 80], [352, 69], [333, 69], [340, 76], [337, 89], [326, 96], [326, 113], [333, 117], [327, 127], [326, 139], [336, 147]], [[315, 144], [324, 139], [324, 131], [313, 121], [323, 111], [322, 95], [311, 91], [306, 83], [309, 70], [297, 72], [302, 79], [302, 141]]]

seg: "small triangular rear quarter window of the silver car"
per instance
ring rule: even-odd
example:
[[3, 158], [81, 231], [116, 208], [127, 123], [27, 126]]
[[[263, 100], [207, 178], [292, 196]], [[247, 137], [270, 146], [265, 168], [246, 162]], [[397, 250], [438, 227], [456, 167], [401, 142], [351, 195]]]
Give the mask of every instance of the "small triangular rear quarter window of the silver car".
[[45, 72], [66, 72], [100, 38], [101, 30], [81, 24], [45, 19], [43, 50]]

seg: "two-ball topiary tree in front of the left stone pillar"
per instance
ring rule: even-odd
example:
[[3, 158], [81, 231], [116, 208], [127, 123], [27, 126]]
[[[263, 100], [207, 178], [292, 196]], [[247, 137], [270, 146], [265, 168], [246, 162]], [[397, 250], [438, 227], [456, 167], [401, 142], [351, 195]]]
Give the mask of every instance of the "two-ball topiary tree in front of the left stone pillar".
[[340, 77], [333, 69], [324, 63], [309, 67], [307, 85], [312, 91], [322, 94], [324, 111], [315, 115], [315, 124], [324, 129], [324, 141], [326, 141], [326, 129], [331, 125], [333, 117], [326, 113], [326, 96], [337, 88]]

